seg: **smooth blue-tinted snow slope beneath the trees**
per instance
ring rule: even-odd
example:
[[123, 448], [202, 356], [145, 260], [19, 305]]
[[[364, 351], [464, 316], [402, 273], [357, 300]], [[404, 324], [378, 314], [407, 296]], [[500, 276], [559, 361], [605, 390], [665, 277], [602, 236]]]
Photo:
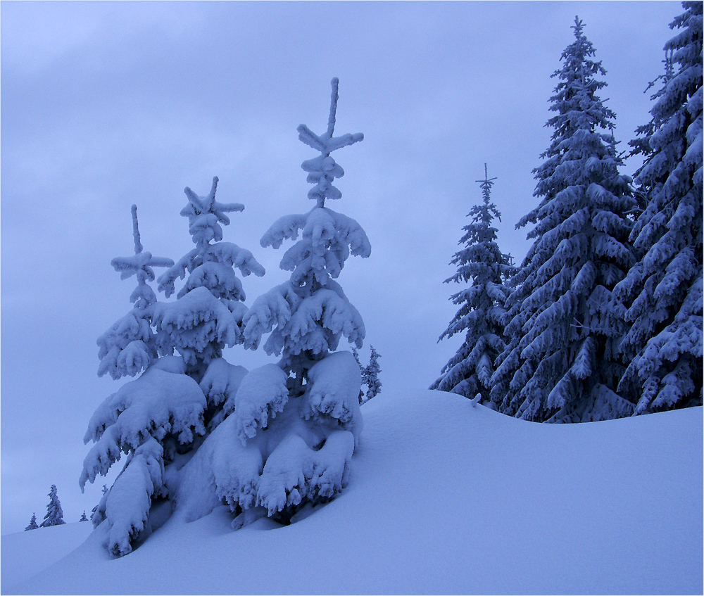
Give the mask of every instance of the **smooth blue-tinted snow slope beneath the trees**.
[[[413, 391], [362, 411], [348, 488], [296, 524], [232, 531], [220, 507], [121, 559], [102, 526], [6, 535], [2, 592], [703, 592], [702, 408], [548, 425]], [[55, 562], [58, 533], [77, 548]]]

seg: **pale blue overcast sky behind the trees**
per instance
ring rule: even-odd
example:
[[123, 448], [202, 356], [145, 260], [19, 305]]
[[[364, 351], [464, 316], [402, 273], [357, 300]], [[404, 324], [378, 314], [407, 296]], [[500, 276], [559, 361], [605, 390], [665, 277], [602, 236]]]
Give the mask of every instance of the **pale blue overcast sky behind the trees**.
[[[225, 240], [267, 270], [247, 303], [289, 277], [259, 239], [313, 203], [296, 127], [327, 127], [340, 79], [334, 210], [372, 243], [339, 282], [382, 355], [382, 395], [429, 386], [460, 345], [436, 343], [455, 313], [454, 269], [476, 180], [496, 177], [499, 243], [520, 262], [536, 205], [532, 169], [548, 147], [548, 99], [574, 16], [608, 71], [602, 99], [626, 148], [648, 120], [677, 2], [3, 2], [1, 15], [2, 533], [42, 521], [49, 486], [64, 519], [99, 500], [78, 477], [96, 407], [124, 380], [96, 376], [96, 338], [130, 309], [134, 278], [110, 266], [142, 243], [191, 250], [184, 186], [241, 202]], [[637, 163], [627, 162], [631, 175]], [[163, 295], [161, 296], [163, 298]], [[275, 359], [227, 350], [233, 364]], [[120, 469], [120, 464], [115, 465]]]

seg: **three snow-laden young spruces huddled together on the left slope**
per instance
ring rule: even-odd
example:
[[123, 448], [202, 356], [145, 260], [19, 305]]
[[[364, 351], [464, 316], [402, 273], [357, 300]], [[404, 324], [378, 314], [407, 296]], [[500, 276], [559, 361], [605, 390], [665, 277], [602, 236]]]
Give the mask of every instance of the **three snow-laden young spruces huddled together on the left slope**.
[[[94, 482], [122, 455], [127, 461], [92, 514], [106, 524], [106, 547], [127, 554], [180, 509], [197, 519], [225, 504], [233, 527], [260, 516], [289, 523], [346, 486], [363, 421], [361, 375], [341, 338], [361, 348], [365, 327], [336, 279], [349, 255], [371, 247], [350, 217], [330, 209], [341, 198], [332, 183], [344, 175], [331, 153], [363, 139], [334, 137], [338, 82], [332, 81], [327, 130], [298, 127], [298, 138], [320, 155], [303, 162], [315, 207], [287, 215], [263, 235], [263, 247], [296, 241], [280, 263], [289, 281], [244, 304], [241, 276], [262, 276], [250, 251], [223, 241], [227, 213], [239, 203], [185, 189], [189, 234], [195, 245], [178, 262], [144, 251], [132, 207], [134, 255], [111, 262], [122, 278], [134, 275], [132, 310], [98, 339], [99, 374], [137, 376], [93, 414], [84, 437], [94, 446], [80, 486]], [[154, 267], [165, 267], [156, 279]], [[172, 301], [157, 300], [149, 282]], [[184, 280], [176, 291], [177, 279]], [[276, 364], [247, 371], [227, 362], [223, 348], [244, 345], [276, 355]], [[378, 391], [375, 387], [372, 391]]]

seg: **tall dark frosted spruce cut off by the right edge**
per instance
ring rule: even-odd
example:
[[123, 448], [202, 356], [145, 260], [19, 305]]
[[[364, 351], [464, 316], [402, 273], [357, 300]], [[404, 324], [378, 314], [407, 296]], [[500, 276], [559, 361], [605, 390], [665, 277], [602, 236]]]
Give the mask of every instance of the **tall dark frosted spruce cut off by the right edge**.
[[683, 6], [652, 118], [631, 141], [646, 205], [631, 232], [639, 262], [615, 292], [630, 323], [619, 389], [636, 414], [702, 402], [702, 3]]

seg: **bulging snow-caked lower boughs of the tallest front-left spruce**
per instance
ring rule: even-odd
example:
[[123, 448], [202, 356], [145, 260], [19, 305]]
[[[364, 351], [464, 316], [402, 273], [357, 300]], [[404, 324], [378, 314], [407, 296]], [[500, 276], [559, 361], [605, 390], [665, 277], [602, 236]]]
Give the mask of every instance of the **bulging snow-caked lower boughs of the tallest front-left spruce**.
[[263, 515], [288, 519], [306, 503], [335, 497], [347, 486], [362, 431], [359, 391], [349, 352], [316, 362], [306, 392], [291, 398], [280, 367], [254, 369], [225, 404], [234, 412], [184, 465], [176, 513], [193, 521], [224, 500], [242, 514], [233, 522], [241, 527]]

